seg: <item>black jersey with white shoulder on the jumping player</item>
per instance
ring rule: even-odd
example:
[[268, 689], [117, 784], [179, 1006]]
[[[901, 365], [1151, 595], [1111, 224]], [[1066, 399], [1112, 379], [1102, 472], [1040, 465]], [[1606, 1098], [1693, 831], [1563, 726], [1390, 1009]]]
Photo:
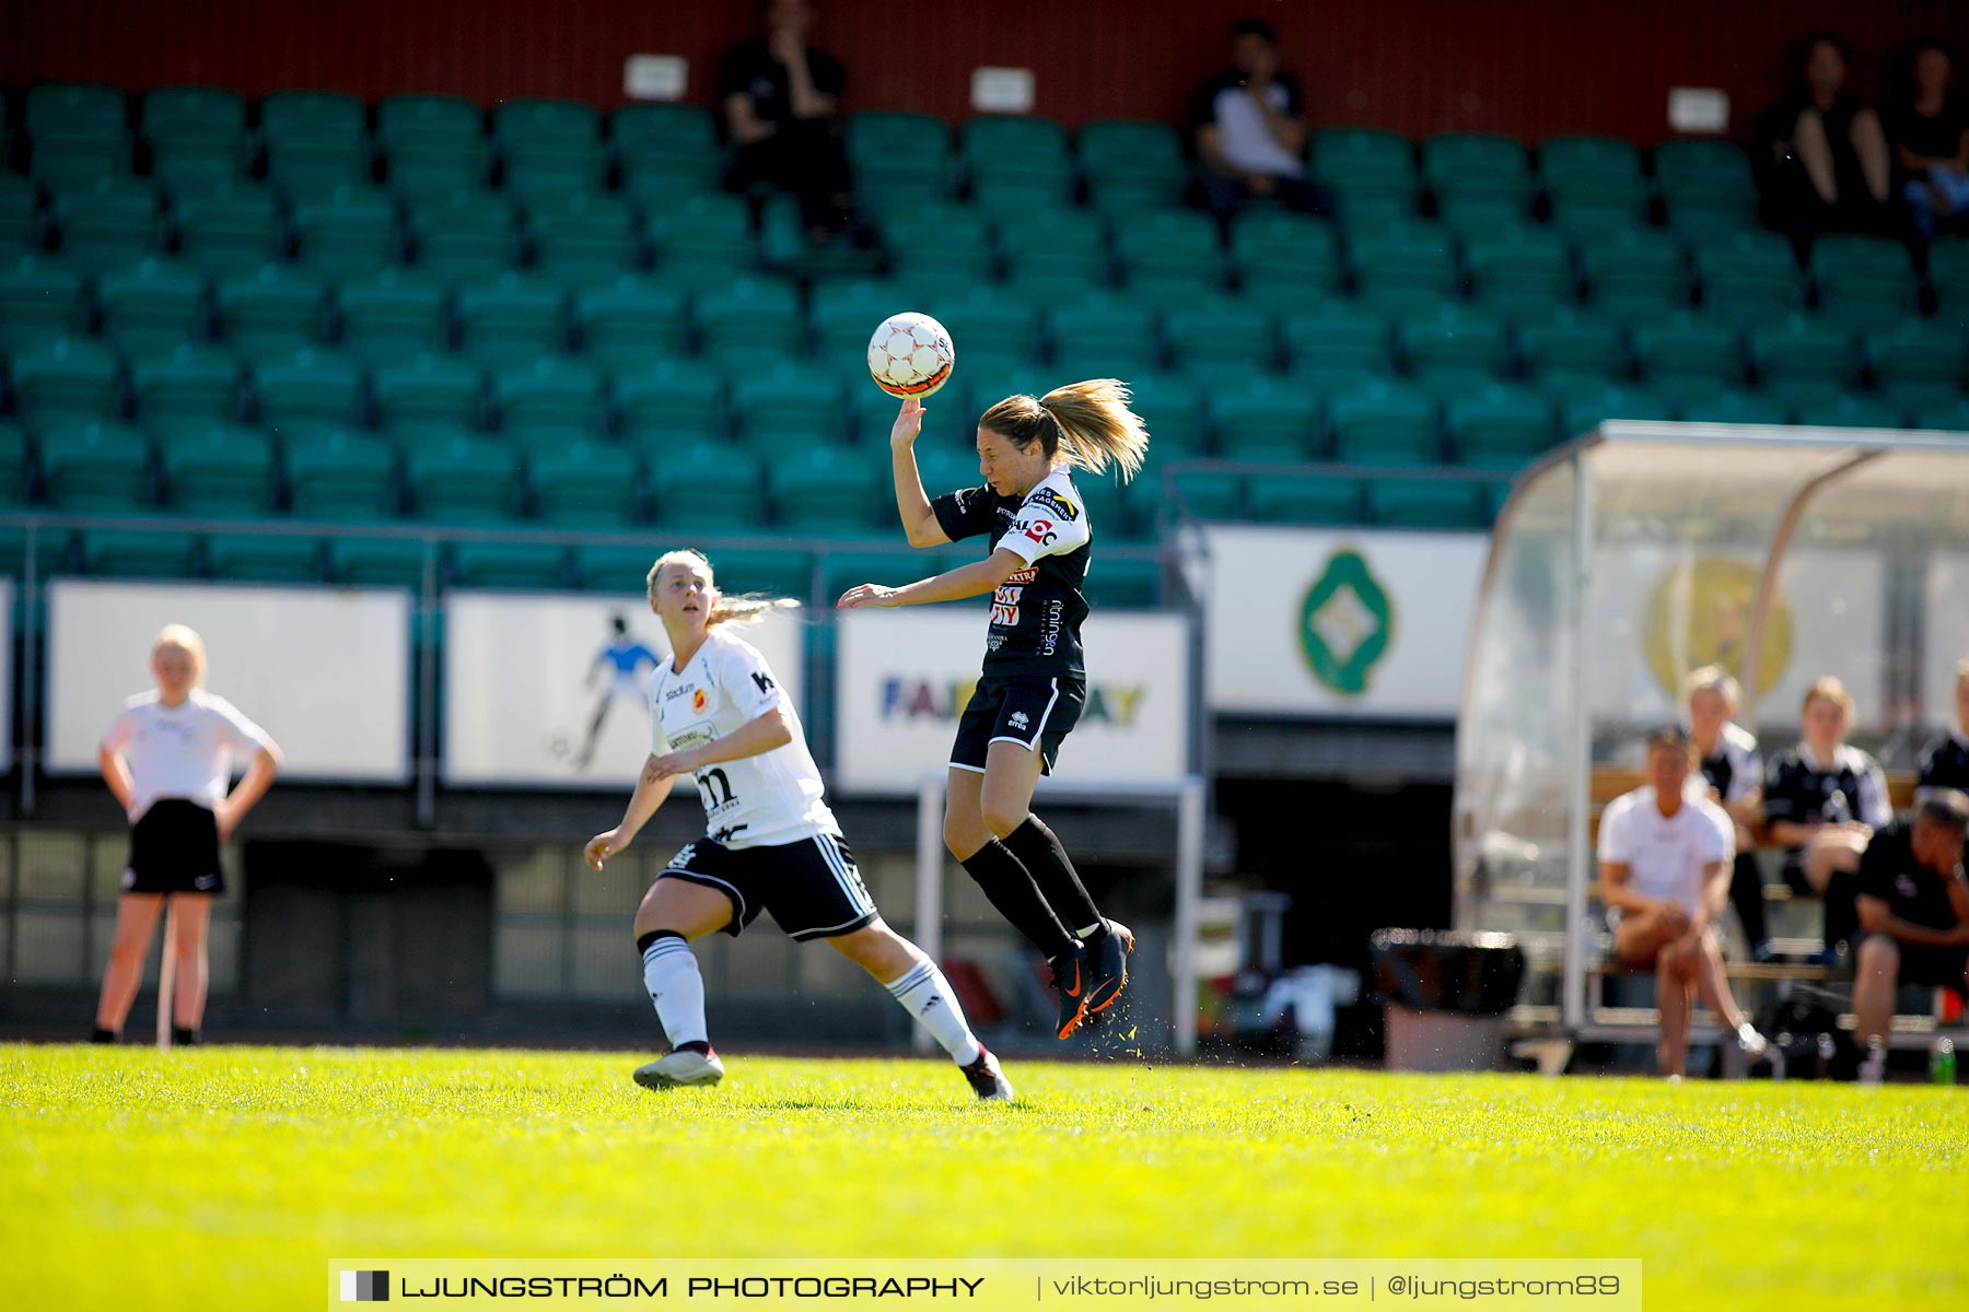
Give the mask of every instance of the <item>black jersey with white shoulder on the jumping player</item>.
[[988, 486], [947, 492], [929, 504], [953, 543], [990, 535], [990, 551], [1018, 553], [1018, 570], [990, 600], [984, 633], [986, 675], [1034, 675], [1087, 681], [1081, 620], [1093, 525], [1073, 478], [1057, 468], [1024, 496], [998, 496]]

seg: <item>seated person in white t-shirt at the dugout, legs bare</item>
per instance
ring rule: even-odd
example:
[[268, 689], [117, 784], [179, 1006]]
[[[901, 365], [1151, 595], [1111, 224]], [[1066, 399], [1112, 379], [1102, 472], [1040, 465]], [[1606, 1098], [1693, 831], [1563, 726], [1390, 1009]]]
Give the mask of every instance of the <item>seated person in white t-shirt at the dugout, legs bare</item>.
[[1770, 1044], [1750, 1027], [1723, 976], [1715, 923], [1729, 897], [1737, 826], [1691, 787], [1695, 745], [1682, 730], [1648, 740], [1648, 783], [1601, 814], [1601, 901], [1617, 917], [1613, 950], [1630, 970], [1654, 968], [1662, 1011], [1656, 1064], [1680, 1078], [1689, 1054], [1693, 995], [1701, 995], [1752, 1060]]

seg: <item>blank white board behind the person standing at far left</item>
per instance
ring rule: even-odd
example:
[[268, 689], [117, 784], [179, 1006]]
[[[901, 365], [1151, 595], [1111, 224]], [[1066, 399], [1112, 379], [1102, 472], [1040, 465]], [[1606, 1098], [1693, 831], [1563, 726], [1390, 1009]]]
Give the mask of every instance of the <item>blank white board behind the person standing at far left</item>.
[[205, 686], [274, 736], [282, 777], [410, 779], [410, 592], [87, 578], [47, 586], [51, 771], [96, 769], [110, 718], [154, 686], [167, 624], [205, 639]]

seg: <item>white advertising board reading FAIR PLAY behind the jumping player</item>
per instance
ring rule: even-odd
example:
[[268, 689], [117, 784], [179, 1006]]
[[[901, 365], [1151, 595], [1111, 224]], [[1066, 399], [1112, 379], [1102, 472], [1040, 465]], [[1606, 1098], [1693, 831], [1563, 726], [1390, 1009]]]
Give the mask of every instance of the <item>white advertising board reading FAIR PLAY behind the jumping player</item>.
[[[843, 793], [916, 793], [949, 765], [984, 655], [979, 608], [851, 610], [835, 663], [835, 777]], [[1087, 704], [1061, 775], [1175, 779], [1189, 759], [1189, 637], [1181, 616], [1095, 614], [1081, 629]]]

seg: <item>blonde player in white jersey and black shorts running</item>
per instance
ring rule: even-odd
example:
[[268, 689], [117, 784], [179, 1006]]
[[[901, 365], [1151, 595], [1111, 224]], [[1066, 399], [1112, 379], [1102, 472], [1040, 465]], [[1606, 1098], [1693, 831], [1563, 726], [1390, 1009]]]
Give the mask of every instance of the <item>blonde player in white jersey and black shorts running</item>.
[[795, 940], [825, 938], [874, 976], [981, 1100], [1010, 1100], [998, 1058], [971, 1033], [943, 972], [882, 923], [827, 808], [799, 716], [758, 649], [730, 633], [795, 602], [723, 596], [695, 551], [660, 557], [648, 584], [671, 649], [648, 686], [656, 747], [622, 822], [591, 838], [583, 856], [601, 869], [628, 848], [683, 775], [705, 805], [705, 838], [669, 860], [636, 911], [644, 985], [669, 1037], [669, 1052], [640, 1066], [636, 1082], [673, 1088], [725, 1076], [689, 944], [717, 930], [736, 936], [770, 911]]

